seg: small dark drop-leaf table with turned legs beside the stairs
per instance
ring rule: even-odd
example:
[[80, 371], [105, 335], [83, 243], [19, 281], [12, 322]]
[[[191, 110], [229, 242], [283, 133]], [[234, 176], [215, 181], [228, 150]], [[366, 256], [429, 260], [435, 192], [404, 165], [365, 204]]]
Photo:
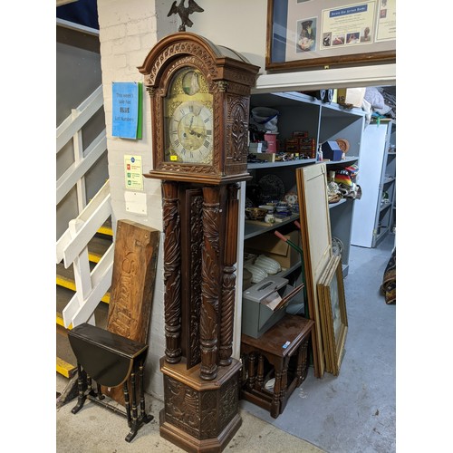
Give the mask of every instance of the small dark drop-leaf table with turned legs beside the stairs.
[[[79, 390], [78, 402], [72, 409], [72, 413], [75, 414], [81, 410], [87, 399], [113, 410], [128, 419], [130, 433], [126, 436], [126, 441], [130, 442], [144, 423], [149, 423], [154, 419], [152, 415], [147, 415], [145, 412], [143, 390], [143, 364], [148, 344], [134, 342], [117, 333], [108, 332], [88, 323], [74, 327], [72, 331], [68, 332], [68, 337], [77, 358]], [[129, 378], [130, 392], [128, 389]], [[96, 381], [97, 391], [92, 389], [92, 379]], [[137, 410], [137, 381], [139, 383], [140, 416]], [[101, 385], [112, 388], [121, 384], [124, 392], [125, 411], [102, 401], [104, 395], [101, 392]]]

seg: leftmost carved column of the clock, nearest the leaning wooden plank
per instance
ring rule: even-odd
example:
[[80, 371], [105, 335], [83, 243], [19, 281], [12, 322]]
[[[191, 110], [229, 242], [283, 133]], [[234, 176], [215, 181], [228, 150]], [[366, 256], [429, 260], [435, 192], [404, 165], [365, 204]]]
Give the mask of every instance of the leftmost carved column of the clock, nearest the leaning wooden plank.
[[181, 252], [178, 183], [162, 182], [164, 219], [165, 360], [181, 360]]

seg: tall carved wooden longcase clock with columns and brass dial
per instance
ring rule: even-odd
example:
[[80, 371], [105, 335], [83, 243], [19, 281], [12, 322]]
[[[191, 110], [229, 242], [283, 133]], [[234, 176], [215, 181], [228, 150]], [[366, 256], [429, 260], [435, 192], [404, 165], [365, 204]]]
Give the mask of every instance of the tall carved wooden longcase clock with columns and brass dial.
[[198, 34], [160, 40], [139, 71], [151, 102], [153, 165], [162, 185], [165, 356], [160, 435], [221, 451], [241, 424], [232, 358], [237, 182], [247, 172], [258, 67]]

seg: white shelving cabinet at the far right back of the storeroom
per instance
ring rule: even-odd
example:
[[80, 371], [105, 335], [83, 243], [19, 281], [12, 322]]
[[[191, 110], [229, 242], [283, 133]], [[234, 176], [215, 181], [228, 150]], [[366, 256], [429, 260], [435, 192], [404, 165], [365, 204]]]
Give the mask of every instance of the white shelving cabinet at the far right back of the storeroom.
[[395, 225], [396, 122], [381, 119], [363, 131], [357, 183], [361, 199], [352, 219], [353, 246], [376, 247]]

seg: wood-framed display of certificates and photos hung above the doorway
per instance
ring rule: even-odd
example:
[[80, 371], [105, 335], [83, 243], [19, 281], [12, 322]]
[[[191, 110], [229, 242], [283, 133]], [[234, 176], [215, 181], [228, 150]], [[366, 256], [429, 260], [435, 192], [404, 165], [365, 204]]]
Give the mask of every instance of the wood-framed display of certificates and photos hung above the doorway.
[[396, 62], [396, 0], [268, 0], [266, 70]]

